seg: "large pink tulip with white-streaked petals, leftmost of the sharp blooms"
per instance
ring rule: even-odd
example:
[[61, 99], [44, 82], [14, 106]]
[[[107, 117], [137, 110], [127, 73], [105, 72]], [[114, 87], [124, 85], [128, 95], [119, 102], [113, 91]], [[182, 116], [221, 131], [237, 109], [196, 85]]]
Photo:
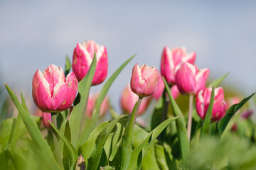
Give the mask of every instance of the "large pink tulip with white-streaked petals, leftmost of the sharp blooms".
[[36, 106], [43, 112], [67, 110], [75, 99], [78, 79], [72, 72], [65, 78], [63, 69], [48, 66], [43, 73], [38, 69], [33, 76], [32, 96]]

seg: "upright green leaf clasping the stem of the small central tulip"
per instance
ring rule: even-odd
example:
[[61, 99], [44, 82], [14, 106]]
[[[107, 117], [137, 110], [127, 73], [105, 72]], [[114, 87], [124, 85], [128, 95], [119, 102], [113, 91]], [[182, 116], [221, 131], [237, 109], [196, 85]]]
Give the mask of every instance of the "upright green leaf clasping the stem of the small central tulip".
[[134, 142], [133, 128], [134, 128], [134, 121], [135, 121], [134, 119], [136, 116], [135, 112], [136, 112], [137, 106], [138, 106], [138, 101], [134, 105], [134, 108], [132, 110], [132, 115], [129, 117], [128, 124], [125, 128], [124, 136], [122, 138], [120, 169], [127, 169], [129, 166], [129, 161], [132, 154], [132, 145]]

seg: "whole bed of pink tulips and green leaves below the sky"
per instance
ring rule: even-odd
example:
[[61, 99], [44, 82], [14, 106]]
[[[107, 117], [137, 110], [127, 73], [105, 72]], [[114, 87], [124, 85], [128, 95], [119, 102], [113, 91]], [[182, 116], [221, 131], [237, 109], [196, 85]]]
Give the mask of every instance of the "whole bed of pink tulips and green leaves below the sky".
[[198, 68], [185, 47], [166, 46], [159, 56], [159, 69], [135, 64], [115, 94], [122, 113], [108, 91], [137, 57], [113, 65], [94, 40], [78, 43], [65, 66], [35, 70], [39, 115], [5, 84], [9, 96], [1, 98], [15, 108], [1, 99], [0, 169], [256, 169], [255, 93], [222, 86], [228, 73], [208, 79], [210, 69]]

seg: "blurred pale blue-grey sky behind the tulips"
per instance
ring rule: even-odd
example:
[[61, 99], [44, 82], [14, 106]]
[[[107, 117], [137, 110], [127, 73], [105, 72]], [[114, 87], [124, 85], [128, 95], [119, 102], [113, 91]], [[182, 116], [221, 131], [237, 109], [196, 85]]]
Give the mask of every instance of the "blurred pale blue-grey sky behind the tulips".
[[[256, 90], [256, 1], [0, 1], [0, 83], [32, 100], [36, 69], [63, 67], [82, 40], [105, 45], [108, 77], [129, 57], [109, 96], [117, 111], [132, 67], [159, 69], [164, 46], [197, 54], [210, 79], [249, 96]], [[92, 91], [100, 91], [102, 85]], [[33, 102], [31, 102], [33, 105]]]

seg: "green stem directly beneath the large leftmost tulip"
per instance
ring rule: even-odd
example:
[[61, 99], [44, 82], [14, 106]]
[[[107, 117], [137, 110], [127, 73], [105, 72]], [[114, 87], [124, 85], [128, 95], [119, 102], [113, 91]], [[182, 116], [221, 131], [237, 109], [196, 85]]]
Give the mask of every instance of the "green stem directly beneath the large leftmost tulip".
[[[52, 121], [53, 121], [53, 125], [55, 125], [55, 127], [57, 128], [57, 113], [52, 113]], [[63, 168], [63, 162], [60, 157], [60, 147], [58, 143], [57, 134], [55, 133], [54, 130], [52, 132], [53, 132], [53, 147], [55, 152], [55, 159], [58, 162], [58, 164]]]

